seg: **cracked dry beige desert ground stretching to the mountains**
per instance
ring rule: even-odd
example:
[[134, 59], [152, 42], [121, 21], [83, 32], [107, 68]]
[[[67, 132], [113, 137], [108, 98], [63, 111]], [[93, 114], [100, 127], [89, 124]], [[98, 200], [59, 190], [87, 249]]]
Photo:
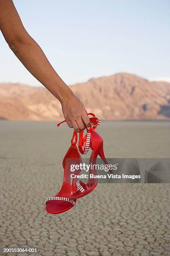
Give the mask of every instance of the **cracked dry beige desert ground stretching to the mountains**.
[[[107, 158], [170, 156], [170, 122], [102, 122], [97, 130]], [[43, 256], [170, 255], [170, 184], [98, 184], [71, 210], [45, 211], [61, 187], [71, 134], [66, 124], [0, 121], [0, 247]]]

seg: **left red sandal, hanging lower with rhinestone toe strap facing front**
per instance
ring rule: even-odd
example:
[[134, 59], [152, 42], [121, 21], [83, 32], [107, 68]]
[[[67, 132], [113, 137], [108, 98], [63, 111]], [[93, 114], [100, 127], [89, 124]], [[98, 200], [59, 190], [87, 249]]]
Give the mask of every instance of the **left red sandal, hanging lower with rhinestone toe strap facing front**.
[[[73, 142], [75, 138], [75, 142]], [[67, 150], [65, 157], [62, 161], [62, 166], [64, 168], [64, 177], [62, 187], [60, 192], [57, 193], [54, 197], [48, 197], [45, 200], [45, 210], [52, 214], [62, 213], [67, 210], [70, 210], [76, 203], [76, 199], [72, 199], [71, 195], [77, 192], [77, 179], [71, 178], [70, 166], [66, 164], [67, 159], [72, 159], [74, 164], [80, 164], [82, 162], [82, 158], [79, 154], [79, 151], [76, 146], [77, 143], [77, 133], [74, 131], [71, 146]], [[75, 174], [80, 174], [80, 169], [75, 171]]]

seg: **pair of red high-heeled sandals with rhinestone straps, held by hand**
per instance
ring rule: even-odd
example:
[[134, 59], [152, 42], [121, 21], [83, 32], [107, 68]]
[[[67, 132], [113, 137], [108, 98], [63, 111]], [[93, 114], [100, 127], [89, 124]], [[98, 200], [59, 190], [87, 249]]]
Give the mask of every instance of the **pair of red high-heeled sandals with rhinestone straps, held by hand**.
[[[108, 164], [103, 152], [102, 137], [97, 132], [95, 132], [97, 125], [100, 125], [100, 118], [95, 117], [93, 113], [88, 113], [87, 115], [92, 116], [90, 118], [90, 128], [86, 128], [87, 133], [84, 137], [83, 137], [83, 131], [79, 133], [79, 142], [78, 142], [79, 150], [76, 146], [77, 132], [74, 131], [71, 139], [71, 146], [67, 150], [67, 153], [65, 154], [65, 157], [62, 161], [62, 166], [64, 169], [64, 177], [63, 177], [63, 183], [62, 183], [60, 192], [58, 192], [57, 195], [53, 197], [48, 197], [45, 200], [45, 204], [46, 204], [45, 209], [49, 213], [58, 214], [58, 213], [62, 213], [67, 210], [70, 210], [72, 207], [75, 206], [77, 198], [84, 197], [85, 195], [92, 192], [92, 190], [97, 186], [97, 178], [95, 178], [95, 175], [96, 175], [95, 168], [90, 168], [90, 171], [89, 171], [90, 174], [94, 175], [94, 178], [90, 178], [90, 175], [89, 175], [87, 184], [85, 184], [79, 179], [77, 179], [77, 175], [80, 175], [80, 168], [75, 169], [74, 175], [71, 175], [72, 172], [71, 172], [70, 164], [66, 163], [67, 159], [71, 160], [72, 163], [74, 163], [74, 165], [76, 164], [80, 166], [80, 164], [82, 163], [82, 158], [80, 156], [80, 153], [85, 155], [87, 154], [89, 148], [91, 148], [92, 153], [90, 156], [90, 163], [89, 163], [90, 166], [96, 163], [96, 159], [98, 155], [102, 158], [105, 164]], [[62, 121], [61, 123], [64, 123], [64, 122], [65, 120]], [[59, 123], [57, 126], [59, 126], [61, 123]], [[112, 170], [110, 170], [110, 173], [112, 173]]]

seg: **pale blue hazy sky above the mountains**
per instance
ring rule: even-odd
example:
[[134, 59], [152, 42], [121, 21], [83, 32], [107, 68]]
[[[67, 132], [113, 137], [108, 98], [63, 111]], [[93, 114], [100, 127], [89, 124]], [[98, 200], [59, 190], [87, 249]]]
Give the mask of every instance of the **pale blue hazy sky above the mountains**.
[[[119, 72], [170, 82], [170, 0], [14, 0], [67, 84]], [[40, 83], [0, 34], [0, 82]]]

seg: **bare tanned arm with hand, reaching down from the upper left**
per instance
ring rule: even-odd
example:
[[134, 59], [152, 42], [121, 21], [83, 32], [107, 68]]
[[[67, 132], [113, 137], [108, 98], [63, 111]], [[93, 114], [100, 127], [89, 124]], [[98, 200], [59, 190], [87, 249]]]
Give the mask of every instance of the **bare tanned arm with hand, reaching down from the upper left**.
[[62, 81], [47, 60], [40, 46], [25, 30], [12, 0], [0, 0], [0, 30], [10, 49], [62, 105], [67, 125], [75, 131], [90, 126], [84, 105]]

